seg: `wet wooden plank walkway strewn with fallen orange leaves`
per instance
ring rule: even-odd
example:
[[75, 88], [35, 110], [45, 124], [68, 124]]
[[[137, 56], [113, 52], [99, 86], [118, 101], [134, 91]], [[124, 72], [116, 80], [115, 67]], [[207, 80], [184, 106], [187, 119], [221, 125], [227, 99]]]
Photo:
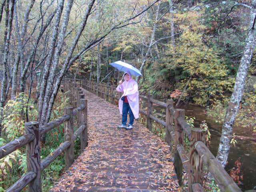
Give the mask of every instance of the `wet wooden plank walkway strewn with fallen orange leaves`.
[[88, 147], [50, 192], [181, 192], [167, 143], [135, 120], [118, 129], [118, 107], [88, 99]]

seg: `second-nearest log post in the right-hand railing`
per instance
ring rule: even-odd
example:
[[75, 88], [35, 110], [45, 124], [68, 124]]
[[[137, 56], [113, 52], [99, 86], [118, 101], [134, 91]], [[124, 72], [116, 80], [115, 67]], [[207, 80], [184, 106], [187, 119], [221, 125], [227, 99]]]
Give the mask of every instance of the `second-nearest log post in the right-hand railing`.
[[[178, 117], [182, 116], [184, 118], [185, 116], [185, 110], [183, 109], [176, 109], [175, 110], [175, 146], [178, 144], [183, 145], [183, 130], [178, 124]], [[178, 153], [178, 150], [175, 150], [174, 152], [174, 166], [177, 174], [177, 178], [179, 180], [180, 186], [182, 186], [182, 171], [183, 171], [183, 164], [180, 159], [180, 155]]]

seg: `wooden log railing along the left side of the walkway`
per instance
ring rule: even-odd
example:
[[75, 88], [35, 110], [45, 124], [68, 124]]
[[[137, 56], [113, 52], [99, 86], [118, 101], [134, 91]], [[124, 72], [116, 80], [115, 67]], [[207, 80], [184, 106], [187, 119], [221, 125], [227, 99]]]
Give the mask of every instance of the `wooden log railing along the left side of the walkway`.
[[[77, 88], [69, 86], [71, 90]], [[76, 96], [76, 97], [74, 97]], [[27, 168], [28, 172], [15, 182], [5, 192], [19, 192], [28, 185], [29, 192], [42, 192], [41, 171], [53, 162], [62, 152], [65, 155], [66, 169], [74, 162], [74, 140], [80, 136], [81, 151], [87, 146], [87, 100], [78, 90], [73, 95], [70, 94], [71, 101], [77, 101], [78, 107], [64, 108], [65, 115], [40, 126], [38, 122], [26, 122], [26, 134], [6, 145], [0, 147], [0, 158], [26, 145]], [[74, 133], [73, 117], [78, 115], [79, 128]], [[46, 134], [53, 128], [65, 122], [64, 140], [65, 142], [50, 153], [43, 160], [40, 159], [40, 135]]]

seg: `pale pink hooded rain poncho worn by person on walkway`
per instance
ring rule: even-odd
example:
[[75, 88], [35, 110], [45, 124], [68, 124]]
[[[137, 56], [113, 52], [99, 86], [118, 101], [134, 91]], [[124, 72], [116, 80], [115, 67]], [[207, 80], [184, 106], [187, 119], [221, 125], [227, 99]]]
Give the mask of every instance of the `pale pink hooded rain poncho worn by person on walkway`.
[[[124, 80], [124, 82], [121, 85], [117, 86], [116, 90], [118, 92], [124, 92], [121, 98], [123, 96], [127, 96], [134, 118], [138, 119], [139, 118], [138, 84], [135, 80], [132, 79], [132, 75], [129, 70], [124, 72], [124, 74], [126, 73], [130, 76], [130, 79], [128, 81]], [[121, 98], [119, 99], [119, 103], [118, 103], [120, 114], [122, 114], [122, 110], [123, 110], [123, 101], [121, 100]]]

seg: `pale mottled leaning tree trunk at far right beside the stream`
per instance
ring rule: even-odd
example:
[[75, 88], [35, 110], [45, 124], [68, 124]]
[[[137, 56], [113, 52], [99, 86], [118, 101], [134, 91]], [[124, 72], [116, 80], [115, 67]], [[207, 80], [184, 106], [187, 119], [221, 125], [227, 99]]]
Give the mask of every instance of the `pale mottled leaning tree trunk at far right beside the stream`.
[[217, 159], [222, 164], [223, 167], [226, 166], [228, 160], [228, 154], [230, 150], [230, 140], [233, 132], [233, 125], [236, 118], [236, 114], [239, 108], [240, 101], [242, 99], [242, 94], [244, 90], [244, 84], [246, 81], [247, 71], [252, 58], [253, 50], [256, 46], [255, 37], [256, 29], [255, 27], [256, 18], [256, 0], [252, 1], [251, 9], [251, 20], [248, 36], [246, 38], [246, 45], [244, 47], [244, 53], [240, 61], [240, 66], [236, 74], [236, 83], [234, 85], [234, 90], [228, 104], [226, 111], [226, 116], [222, 126], [222, 134], [220, 138], [220, 145], [218, 148]]

